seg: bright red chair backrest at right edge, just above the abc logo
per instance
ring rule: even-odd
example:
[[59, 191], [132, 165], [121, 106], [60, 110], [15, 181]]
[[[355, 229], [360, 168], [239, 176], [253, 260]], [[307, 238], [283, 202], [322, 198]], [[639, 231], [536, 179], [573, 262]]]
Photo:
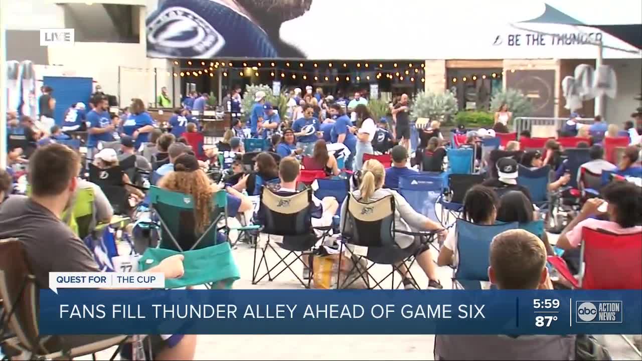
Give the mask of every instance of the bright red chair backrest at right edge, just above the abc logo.
[[582, 288], [642, 290], [642, 233], [609, 234], [582, 229]]

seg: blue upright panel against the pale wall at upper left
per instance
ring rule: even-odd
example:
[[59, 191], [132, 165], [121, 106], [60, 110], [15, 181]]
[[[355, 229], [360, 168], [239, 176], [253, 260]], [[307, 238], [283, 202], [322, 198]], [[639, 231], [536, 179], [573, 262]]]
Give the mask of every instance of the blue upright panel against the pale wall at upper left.
[[73, 103], [82, 101], [89, 108], [89, 98], [92, 91], [92, 78], [77, 78], [74, 76], [44, 76], [43, 85], [53, 88], [53, 97], [56, 98], [56, 109], [53, 118], [56, 124], [62, 124], [65, 110]]

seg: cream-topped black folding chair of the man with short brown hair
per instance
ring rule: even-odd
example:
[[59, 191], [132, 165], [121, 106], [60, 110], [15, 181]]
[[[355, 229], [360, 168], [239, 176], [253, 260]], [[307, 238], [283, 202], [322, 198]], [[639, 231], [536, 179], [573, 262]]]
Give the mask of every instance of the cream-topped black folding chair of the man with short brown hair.
[[[292, 269], [293, 263], [297, 260], [303, 263], [302, 257], [305, 254], [311, 254], [315, 250], [315, 245], [319, 240], [324, 238], [331, 227], [313, 227], [312, 226], [312, 189], [306, 188], [299, 193], [283, 195], [274, 193], [270, 188], [263, 187], [261, 191], [261, 204], [257, 213], [257, 223], [263, 226], [263, 233], [267, 234], [265, 245], [261, 245], [261, 258], [257, 264], [257, 250], [259, 249], [259, 242], [254, 243], [254, 261], [252, 263], [252, 285], [259, 283], [265, 276], [268, 276], [270, 281], [273, 281], [284, 270], [290, 272], [297, 277], [302, 286], [309, 288], [312, 275], [309, 274], [308, 281], [302, 280], [297, 272]], [[315, 230], [321, 231], [322, 235], [317, 237]], [[277, 242], [273, 240], [274, 236], [281, 236], [282, 241]], [[285, 256], [281, 256], [277, 247], [288, 251]], [[270, 267], [266, 253], [273, 251], [279, 261]], [[292, 261], [286, 261], [290, 255], [294, 256]], [[265, 264], [266, 272], [259, 277], [261, 263]], [[280, 265], [284, 267], [276, 274], [275, 269]], [[309, 270], [313, 269], [312, 265], [308, 265]]]

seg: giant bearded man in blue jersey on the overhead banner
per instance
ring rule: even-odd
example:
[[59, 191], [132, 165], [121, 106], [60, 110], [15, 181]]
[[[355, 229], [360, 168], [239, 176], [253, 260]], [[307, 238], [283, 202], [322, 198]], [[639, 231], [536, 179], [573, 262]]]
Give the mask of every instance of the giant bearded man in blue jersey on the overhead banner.
[[[302, 58], [279, 36], [281, 24], [312, 0], [165, 0], [146, 21], [147, 52], [160, 58]], [[252, 41], [245, 41], [252, 39]]]

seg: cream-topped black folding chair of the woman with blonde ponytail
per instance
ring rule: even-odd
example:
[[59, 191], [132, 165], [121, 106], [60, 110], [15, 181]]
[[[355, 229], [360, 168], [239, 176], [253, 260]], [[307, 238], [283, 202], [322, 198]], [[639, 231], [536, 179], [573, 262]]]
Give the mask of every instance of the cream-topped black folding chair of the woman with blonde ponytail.
[[[401, 249], [395, 243], [395, 237], [400, 234], [407, 234], [415, 238], [424, 237], [429, 238], [433, 236], [433, 232], [408, 232], [400, 229], [395, 229], [395, 198], [393, 195], [387, 195], [374, 202], [364, 203], [357, 200], [352, 193], [345, 199], [347, 202], [345, 214], [342, 214], [343, 228], [339, 254], [343, 254], [343, 249], [347, 249], [350, 258], [356, 258], [354, 265], [347, 274], [351, 274], [356, 270], [359, 274], [354, 277], [350, 283], [342, 284], [341, 277], [341, 258], [339, 259], [337, 288], [348, 288], [351, 283], [357, 279], [363, 279], [366, 285], [370, 288], [381, 288], [381, 283], [391, 277], [392, 288], [398, 288], [401, 281], [395, 287], [395, 272], [403, 273], [407, 271], [407, 277], [414, 285], [417, 285], [415, 277], [410, 272], [410, 267], [415, 261], [414, 253], [415, 247], [407, 247]], [[419, 243], [419, 242], [417, 242]], [[367, 247], [367, 251], [360, 251], [363, 247]], [[357, 265], [361, 259], [365, 258], [372, 262], [367, 269], [360, 269]], [[390, 265], [392, 270], [385, 277], [377, 281], [376, 277], [372, 276], [370, 269], [376, 264]], [[403, 269], [401, 267], [403, 265]], [[370, 283], [372, 278], [375, 283]]]

